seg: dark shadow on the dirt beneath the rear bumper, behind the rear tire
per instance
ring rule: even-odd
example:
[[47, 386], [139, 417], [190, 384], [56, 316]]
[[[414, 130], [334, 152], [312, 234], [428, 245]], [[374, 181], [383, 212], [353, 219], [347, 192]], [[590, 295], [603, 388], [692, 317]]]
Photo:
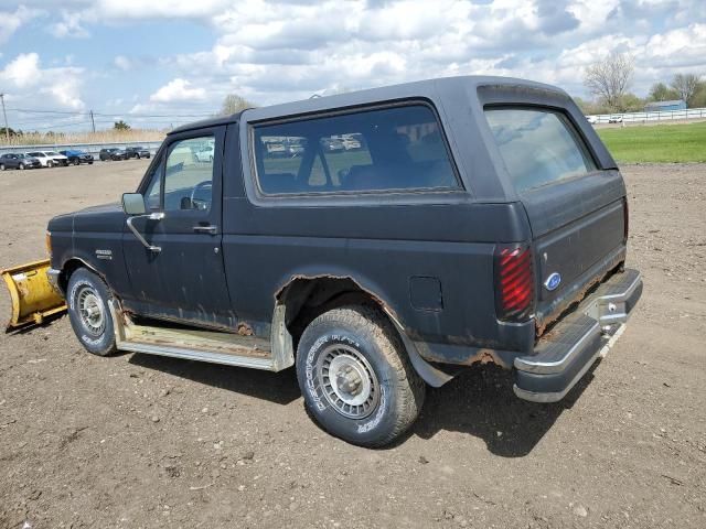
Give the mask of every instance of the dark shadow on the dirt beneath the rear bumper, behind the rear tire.
[[525, 456], [559, 415], [574, 406], [593, 378], [598, 364], [564, 400], [550, 404], [515, 397], [512, 371], [493, 365], [474, 366], [441, 388], [428, 388], [421, 415], [407, 436], [431, 439], [440, 430], [468, 433], [482, 439], [495, 455]]

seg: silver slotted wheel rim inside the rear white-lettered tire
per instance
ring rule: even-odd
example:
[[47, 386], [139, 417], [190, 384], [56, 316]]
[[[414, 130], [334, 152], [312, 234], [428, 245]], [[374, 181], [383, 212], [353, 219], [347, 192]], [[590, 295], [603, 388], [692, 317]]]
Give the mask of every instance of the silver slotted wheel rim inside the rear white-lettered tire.
[[342, 415], [363, 419], [377, 407], [379, 384], [375, 371], [353, 347], [327, 347], [319, 357], [317, 375], [324, 397]]

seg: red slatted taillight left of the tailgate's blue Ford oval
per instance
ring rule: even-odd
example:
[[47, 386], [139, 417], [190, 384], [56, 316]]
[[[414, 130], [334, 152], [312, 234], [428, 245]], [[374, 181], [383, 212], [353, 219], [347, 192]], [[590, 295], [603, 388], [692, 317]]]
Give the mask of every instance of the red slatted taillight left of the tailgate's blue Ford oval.
[[534, 274], [532, 251], [525, 246], [495, 249], [495, 313], [499, 320], [521, 322], [532, 314]]

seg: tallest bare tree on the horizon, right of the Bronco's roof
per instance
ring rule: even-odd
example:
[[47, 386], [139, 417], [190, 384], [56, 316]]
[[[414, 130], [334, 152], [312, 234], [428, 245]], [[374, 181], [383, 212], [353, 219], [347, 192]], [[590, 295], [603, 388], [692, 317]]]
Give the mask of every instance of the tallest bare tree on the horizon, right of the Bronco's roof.
[[586, 68], [584, 85], [614, 110], [623, 110], [622, 98], [632, 83], [634, 58], [627, 53], [612, 53]]

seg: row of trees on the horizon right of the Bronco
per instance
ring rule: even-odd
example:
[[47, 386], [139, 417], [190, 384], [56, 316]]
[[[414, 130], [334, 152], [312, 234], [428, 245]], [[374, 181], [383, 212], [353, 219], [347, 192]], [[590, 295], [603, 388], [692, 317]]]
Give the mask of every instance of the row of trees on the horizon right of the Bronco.
[[678, 99], [685, 101], [687, 108], [706, 107], [706, 80], [699, 75], [675, 74], [668, 83], [654, 83], [642, 98], [630, 91], [634, 69], [634, 57], [627, 53], [613, 53], [591, 64], [584, 73], [584, 86], [595, 99], [575, 97], [574, 100], [587, 115], [639, 112], [649, 102]]

